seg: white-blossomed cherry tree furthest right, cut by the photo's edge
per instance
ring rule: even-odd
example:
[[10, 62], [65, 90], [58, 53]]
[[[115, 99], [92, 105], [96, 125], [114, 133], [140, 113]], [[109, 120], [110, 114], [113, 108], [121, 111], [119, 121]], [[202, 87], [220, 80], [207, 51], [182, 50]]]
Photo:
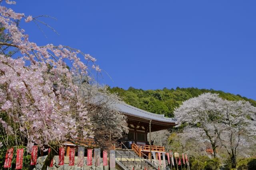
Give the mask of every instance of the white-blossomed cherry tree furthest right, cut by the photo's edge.
[[215, 131], [228, 152], [232, 168], [236, 168], [238, 152], [248, 154], [246, 149], [256, 143], [256, 108], [245, 101], [224, 100], [222, 106], [224, 112]]

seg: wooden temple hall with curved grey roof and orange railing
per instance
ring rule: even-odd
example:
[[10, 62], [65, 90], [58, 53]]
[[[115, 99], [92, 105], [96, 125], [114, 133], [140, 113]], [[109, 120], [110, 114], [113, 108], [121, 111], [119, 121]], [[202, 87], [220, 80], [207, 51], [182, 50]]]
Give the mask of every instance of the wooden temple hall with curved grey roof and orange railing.
[[151, 145], [151, 132], [173, 127], [176, 125], [174, 119], [124, 103], [115, 104], [115, 107], [127, 116], [129, 133], [124, 135], [121, 141], [128, 149], [134, 150], [139, 156], [141, 156], [141, 152], [148, 156], [151, 155], [151, 152], [165, 152], [164, 147]]

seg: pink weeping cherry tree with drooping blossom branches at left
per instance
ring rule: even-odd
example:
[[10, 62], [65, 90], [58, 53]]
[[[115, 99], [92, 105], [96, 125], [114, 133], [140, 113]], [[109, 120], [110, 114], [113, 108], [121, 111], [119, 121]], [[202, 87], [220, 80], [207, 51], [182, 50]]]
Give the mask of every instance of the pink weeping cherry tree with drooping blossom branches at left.
[[[0, 118], [0, 123], [6, 134], [18, 131], [26, 137], [28, 149], [34, 143], [44, 149], [45, 145], [70, 138], [92, 137], [88, 110], [82, 104], [74, 77], [92, 80], [88, 72], [100, 71], [99, 66], [92, 67], [96, 59], [65, 45], [38, 46], [30, 42], [25, 30], [16, 24], [22, 18], [26, 22], [33, 20], [32, 16], [0, 6], [4, 36], [11, 40], [0, 45], [19, 51], [12, 57], [0, 54], [0, 116], [8, 117], [8, 121]], [[9, 145], [8, 141], [4, 145]]]

